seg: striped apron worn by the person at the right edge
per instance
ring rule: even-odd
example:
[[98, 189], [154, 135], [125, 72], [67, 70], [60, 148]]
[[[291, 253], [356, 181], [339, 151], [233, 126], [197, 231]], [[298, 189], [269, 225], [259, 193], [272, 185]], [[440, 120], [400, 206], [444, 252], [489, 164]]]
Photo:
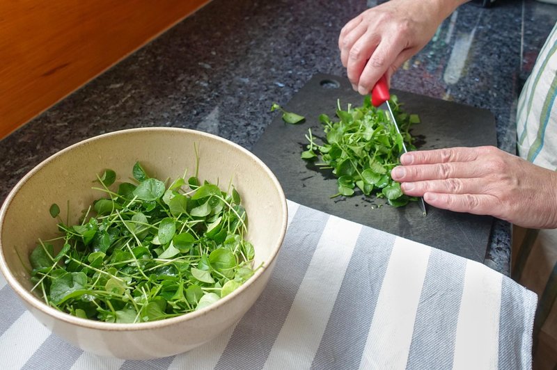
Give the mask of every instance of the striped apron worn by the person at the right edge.
[[[557, 23], [519, 97], [517, 149], [538, 166], [557, 170]], [[534, 363], [557, 367], [557, 230], [513, 227], [512, 278], [538, 293]]]

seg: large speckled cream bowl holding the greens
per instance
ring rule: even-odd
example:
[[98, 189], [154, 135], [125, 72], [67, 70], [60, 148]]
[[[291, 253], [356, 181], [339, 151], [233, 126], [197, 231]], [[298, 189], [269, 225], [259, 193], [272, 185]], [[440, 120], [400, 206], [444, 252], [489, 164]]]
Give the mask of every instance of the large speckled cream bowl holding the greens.
[[[196, 168], [194, 143], [200, 156], [199, 179], [219, 184], [232, 180], [242, 195], [249, 219], [247, 239], [256, 250], [255, 266], [263, 264], [242, 287], [196, 312], [149, 323], [104, 323], [79, 319], [48, 307], [34, 293], [26, 268], [38, 238], [56, 234], [52, 203], [70, 204], [75, 222], [93, 200], [92, 179], [106, 168], [116, 182], [131, 177], [140, 161], [152, 177], [175, 179]], [[283, 241], [286, 200], [273, 173], [251, 152], [218, 136], [188, 129], [146, 128], [116, 131], [72, 145], [33, 168], [10, 192], [0, 210], [0, 271], [32, 314], [71, 344], [98, 355], [149, 359], [175, 355], [216, 337], [238, 321], [265, 288]], [[29, 333], [33, 335], [33, 333]]]

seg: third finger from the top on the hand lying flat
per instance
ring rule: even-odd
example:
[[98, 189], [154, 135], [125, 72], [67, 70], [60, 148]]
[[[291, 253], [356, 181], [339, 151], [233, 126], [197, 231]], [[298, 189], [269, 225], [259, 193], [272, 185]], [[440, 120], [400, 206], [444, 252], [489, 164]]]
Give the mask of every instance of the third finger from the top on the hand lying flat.
[[422, 197], [425, 193], [444, 194], [487, 194], [492, 186], [484, 179], [446, 179], [418, 182], [402, 182], [400, 189], [406, 195]]

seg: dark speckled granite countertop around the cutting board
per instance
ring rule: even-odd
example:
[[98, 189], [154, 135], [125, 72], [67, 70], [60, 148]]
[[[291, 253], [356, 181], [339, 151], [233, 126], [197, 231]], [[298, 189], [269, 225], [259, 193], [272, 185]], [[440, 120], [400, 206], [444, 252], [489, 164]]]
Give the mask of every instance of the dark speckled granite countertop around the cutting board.
[[[345, 76], [338, 33], [376, 1], [213, 0], [0, 141], [0, 201], [68, 145], [132, 127], [183, 127], [251, 149], [317, 72]], [[395, 74], [393, 88], [487, 108], [498, 146], [515, 152], [516, 101], [557, 6], [461, 6]], [[497, 220], [485, 263], [510, 273], [510, 225]]]

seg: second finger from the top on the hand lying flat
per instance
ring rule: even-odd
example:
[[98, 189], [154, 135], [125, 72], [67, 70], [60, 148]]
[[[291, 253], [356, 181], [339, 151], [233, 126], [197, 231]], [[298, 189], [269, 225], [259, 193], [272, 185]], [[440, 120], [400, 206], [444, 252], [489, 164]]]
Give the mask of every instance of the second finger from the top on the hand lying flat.
[[471, 179], [489, 175], [489, 166], [470, 162], [448, 162], [397, 166], [391, 171], [396, 182], [416, 182], [444, 179]]

